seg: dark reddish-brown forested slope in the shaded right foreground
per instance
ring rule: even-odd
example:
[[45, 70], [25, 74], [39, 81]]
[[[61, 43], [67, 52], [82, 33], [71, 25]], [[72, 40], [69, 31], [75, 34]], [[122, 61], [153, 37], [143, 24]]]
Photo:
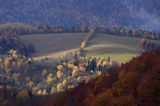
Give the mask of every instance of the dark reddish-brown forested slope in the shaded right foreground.
[[159, 106], [159, 53], [144, 53], [88, 84], [55, 95], [46, 106]]

